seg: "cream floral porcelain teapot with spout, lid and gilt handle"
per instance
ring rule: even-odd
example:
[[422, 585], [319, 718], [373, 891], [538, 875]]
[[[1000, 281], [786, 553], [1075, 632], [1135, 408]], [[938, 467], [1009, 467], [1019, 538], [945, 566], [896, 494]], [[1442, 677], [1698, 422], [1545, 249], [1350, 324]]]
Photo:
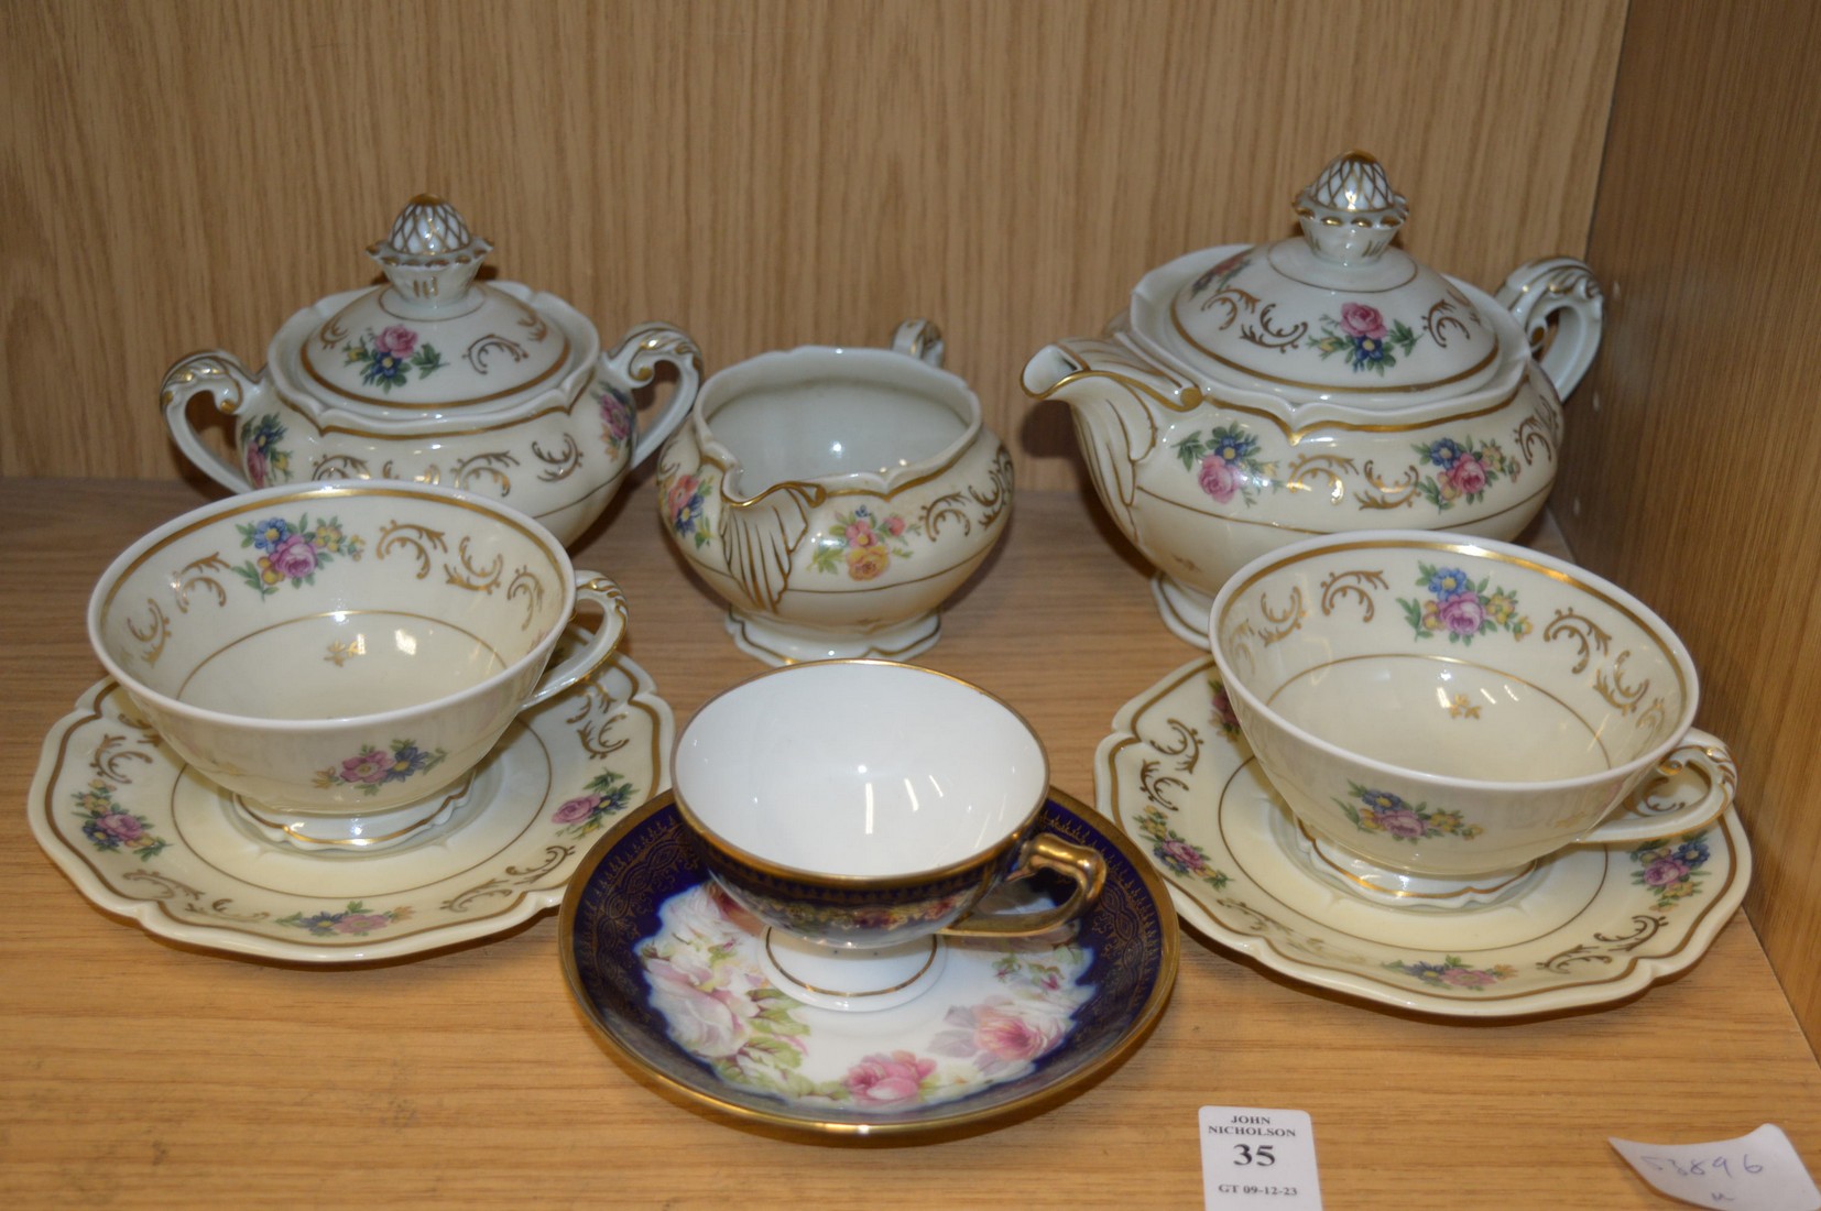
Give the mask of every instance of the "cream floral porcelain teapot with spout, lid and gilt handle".
[[1023, 371], [1071, 406], [1102, 504], [1156, 568], [1165, 625], [1207, 646], [1213, 595], [1311, 534], [1511, 539], [1555, 481], [1562, 397], [1599, 348], [1602, 299], [1568, 257], [1497, 299], [1391, 240], [1408, 217], [1353, 151], [1297, 195], [1300, 235], [1147, 273], [1094, 339]]

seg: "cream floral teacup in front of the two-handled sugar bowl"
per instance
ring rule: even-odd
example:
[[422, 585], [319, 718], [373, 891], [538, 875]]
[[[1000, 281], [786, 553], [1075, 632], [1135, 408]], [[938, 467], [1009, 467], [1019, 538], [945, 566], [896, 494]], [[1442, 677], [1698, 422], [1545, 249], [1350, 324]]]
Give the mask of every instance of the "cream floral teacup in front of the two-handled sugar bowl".
[[[603, 616], [557, 665], [577, 601]], [[619, 643], [612, 581], [535, 521], [417, 483], [268, 488], [133, 543], [89, 641], [158, 736], [317, 843], [422, 823], [514, 716]]]

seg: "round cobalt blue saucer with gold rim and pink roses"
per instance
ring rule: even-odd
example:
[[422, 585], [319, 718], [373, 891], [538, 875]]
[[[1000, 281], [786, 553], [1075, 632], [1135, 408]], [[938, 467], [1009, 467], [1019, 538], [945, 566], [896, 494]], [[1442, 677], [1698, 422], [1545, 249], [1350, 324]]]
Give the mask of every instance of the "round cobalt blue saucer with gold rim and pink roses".
[[951, 938], [929, 991], [856, 1013], [799, 1003], [765, 978], [763, 925], [708, 881], [663, 796], [583, 860], [557, 925], [563, 972], [628, 1063], [736, 1118], [874, 1136], [1029, 1109], [1144, 1040], [1180, 945], [1169, 896], [1131, 841], [1056, 790], [1038, 827], [1105, 858], [1098, 903], [1040, 938]]

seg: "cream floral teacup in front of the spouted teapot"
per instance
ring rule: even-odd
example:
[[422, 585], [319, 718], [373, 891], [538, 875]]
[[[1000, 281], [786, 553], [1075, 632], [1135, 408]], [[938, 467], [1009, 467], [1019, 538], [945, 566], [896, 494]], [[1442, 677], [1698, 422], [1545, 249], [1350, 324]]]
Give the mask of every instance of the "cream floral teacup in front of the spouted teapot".
[[[1692, 727], [1681, 639], [1533, 550], [1413, 530], [1297, 543], [1220, 590], [1211, 641], [1271, 785], [1380, 890], [1399, 874], [1497, 887], [1566, 845], [1670, 836], [1732, 801], [1726, 745]], [[1650, 799], [1659, 767], [1683, 765], [1704, 794]]]

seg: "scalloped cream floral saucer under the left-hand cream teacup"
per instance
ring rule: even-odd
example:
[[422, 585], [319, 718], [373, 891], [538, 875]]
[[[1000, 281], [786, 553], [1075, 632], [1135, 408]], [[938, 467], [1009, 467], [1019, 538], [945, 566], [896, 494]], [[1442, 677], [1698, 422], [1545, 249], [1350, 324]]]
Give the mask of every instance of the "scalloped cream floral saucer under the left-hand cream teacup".
[[46, 738], [27, 816], [84, 896], [148, 932], [353, 963], [486, 938], [557, 907], [601, 829], [670, 785], [670, 707], [617, 656], [519, 716], [444, 823], [377, 852], [313, 852], [253, 823], [104, 679]]

